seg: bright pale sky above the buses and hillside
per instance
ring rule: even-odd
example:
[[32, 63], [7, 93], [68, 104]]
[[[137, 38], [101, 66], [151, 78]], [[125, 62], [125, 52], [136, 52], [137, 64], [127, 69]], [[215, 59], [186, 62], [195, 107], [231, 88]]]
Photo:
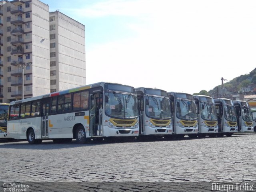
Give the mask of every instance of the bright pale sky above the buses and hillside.
[[255, 0], [41, 0], [85, 26], [86, 84], [212, 90], [256, 68]]

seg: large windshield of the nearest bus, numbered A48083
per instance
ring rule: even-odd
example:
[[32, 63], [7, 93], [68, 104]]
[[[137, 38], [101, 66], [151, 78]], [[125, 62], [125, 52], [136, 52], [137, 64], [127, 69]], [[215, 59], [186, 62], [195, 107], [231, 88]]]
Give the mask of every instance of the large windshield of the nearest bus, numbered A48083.
[[105, 106], [105, 112], [108, 116], [115, 118], [135, 118], [138, 116], [136, 95], [106, 92]]

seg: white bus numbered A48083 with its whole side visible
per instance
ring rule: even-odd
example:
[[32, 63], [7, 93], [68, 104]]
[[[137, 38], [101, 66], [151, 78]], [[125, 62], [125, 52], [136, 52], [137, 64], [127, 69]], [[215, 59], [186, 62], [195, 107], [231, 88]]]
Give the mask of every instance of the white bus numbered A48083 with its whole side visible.
[[138, 103], [132, 86], [99, 82], [10, 103], [8, 137], [30, 144], [89, 142], [139, 134]]

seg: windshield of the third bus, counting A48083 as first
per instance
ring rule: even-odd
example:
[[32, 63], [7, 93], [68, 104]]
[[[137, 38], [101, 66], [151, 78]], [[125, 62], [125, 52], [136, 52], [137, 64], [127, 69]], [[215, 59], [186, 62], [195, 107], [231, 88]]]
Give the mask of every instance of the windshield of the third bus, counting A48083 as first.
[[196, 119], [196, 103], [191, 100], [176, 99], [176, 116], [184, 120]]

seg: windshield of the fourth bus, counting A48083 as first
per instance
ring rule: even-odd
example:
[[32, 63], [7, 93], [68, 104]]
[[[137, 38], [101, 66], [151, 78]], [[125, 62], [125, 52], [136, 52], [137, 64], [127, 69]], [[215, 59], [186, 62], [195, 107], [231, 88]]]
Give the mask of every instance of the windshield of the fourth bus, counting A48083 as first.
[[217, 120], [215, 104], [200, 102], [200, 111], [204, 120]]

